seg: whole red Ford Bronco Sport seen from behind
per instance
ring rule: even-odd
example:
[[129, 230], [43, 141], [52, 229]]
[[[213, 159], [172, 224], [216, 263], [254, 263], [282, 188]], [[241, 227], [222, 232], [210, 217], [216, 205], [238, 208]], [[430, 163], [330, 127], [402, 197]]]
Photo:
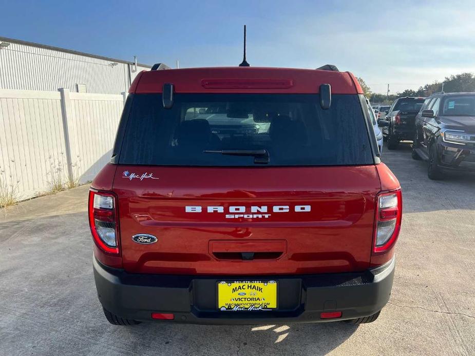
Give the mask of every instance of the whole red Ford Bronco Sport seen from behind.
[[110, 323], [376, 320], [401, 187], [355, 77], [327, 67], [137, 76], [89, 194]]

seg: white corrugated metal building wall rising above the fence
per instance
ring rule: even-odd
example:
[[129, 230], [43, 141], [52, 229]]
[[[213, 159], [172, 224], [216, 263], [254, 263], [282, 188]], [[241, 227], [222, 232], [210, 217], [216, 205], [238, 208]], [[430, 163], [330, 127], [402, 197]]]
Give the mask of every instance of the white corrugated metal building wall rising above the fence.
[[[10, 46], [0, 49], [0, 89], [76, 92], [76, 84], [85, 84], [88, 93], [120, 94], [141, 70], [149, 69], [138, 66], [132, 73], [131, 64], [112, 58], [5, 42]], [[110, 66], [114, 62], [118, 64]]]

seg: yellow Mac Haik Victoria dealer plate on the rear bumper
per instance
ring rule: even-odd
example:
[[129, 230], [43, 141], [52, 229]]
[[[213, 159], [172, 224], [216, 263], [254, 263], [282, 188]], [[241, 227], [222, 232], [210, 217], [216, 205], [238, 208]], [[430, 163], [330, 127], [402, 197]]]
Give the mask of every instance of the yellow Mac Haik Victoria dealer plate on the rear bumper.
[[277, 281], [220, 281], [218, 309], [221, 311], [277, 309]]

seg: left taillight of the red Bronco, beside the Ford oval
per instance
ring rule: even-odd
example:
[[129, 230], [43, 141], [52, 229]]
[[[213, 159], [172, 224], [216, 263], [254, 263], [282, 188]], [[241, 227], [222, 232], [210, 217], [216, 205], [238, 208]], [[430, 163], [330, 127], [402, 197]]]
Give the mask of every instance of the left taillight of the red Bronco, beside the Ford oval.
[[96, 245], [104, 252], [119, 253], [117, 199], [113, 193], [89, 191], [89, 226]]

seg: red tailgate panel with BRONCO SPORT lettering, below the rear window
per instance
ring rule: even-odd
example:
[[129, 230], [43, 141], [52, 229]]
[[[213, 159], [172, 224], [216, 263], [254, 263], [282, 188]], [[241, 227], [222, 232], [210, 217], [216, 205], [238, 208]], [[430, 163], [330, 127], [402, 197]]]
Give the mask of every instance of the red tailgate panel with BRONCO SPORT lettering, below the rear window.
[[380, 185], [373, 165], [119, 165], [113, 190], [125, 270], [252, 275], [368, 268]]

